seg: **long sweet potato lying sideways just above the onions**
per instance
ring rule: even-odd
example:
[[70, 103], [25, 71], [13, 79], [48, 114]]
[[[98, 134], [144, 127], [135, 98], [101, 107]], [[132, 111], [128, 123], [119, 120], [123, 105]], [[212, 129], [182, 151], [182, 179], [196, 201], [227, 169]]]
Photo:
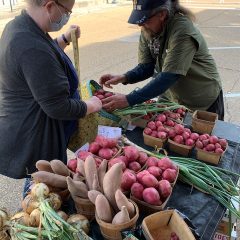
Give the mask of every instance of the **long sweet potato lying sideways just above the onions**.
[[67, 188], [67, 181], [65, 176], [45, 171], [38, 171], [32, 173], [31, 175], [35, 182], [45, 183], [57, 188]]

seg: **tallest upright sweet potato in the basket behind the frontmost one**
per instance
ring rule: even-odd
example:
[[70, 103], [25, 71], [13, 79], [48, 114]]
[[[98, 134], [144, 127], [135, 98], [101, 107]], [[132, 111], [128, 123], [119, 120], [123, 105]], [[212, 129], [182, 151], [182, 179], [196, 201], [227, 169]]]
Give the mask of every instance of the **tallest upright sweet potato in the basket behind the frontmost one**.
[[97, 166], [92, 156], [88, 156], [84, 162], [85, 178], [89, 190], [93, 190], [94, 174], [97, 174]]

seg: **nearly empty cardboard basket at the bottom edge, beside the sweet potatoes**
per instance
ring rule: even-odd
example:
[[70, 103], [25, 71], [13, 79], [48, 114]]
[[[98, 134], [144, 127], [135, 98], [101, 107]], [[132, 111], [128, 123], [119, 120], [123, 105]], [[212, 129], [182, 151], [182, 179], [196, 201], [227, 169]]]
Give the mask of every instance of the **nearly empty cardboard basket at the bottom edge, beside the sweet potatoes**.
[[195, 240], [185, 221], [175, 210], [154, 213], [143, 219], [143, 234], [147, 240], [169, 240], [176, 233], [180, 240]]

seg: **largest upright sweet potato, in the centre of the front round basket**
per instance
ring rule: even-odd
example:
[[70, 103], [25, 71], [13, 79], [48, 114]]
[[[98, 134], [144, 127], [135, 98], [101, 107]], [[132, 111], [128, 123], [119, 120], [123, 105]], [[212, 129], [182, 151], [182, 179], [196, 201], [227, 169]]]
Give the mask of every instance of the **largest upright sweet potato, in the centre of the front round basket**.
[[118, 210], [115, 192], [120, 188], [122, 179], [122, 164], [114, 164], [103, 179], [103, 192], [115, 211]]

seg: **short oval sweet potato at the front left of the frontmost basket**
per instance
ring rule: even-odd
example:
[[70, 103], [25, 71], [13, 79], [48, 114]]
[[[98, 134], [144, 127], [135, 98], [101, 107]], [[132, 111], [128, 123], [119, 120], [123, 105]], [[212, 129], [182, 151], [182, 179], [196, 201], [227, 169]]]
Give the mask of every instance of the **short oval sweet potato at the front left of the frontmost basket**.
[[112, 210], [107, 198], [103, 194], [99, 194], [95, 201], [97, 216], [104, 222], [112, 221]]

